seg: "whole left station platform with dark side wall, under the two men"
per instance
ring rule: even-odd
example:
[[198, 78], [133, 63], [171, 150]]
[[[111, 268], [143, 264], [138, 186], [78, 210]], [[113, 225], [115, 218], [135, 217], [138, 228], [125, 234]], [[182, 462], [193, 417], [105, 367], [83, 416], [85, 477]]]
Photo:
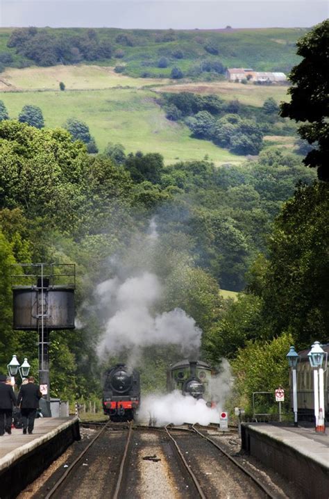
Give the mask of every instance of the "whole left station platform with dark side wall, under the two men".
[[31, 435], [12, 428], [0, 436], [0, 499], [15, 498], [79, 439], [78, 416], [37, 418]]

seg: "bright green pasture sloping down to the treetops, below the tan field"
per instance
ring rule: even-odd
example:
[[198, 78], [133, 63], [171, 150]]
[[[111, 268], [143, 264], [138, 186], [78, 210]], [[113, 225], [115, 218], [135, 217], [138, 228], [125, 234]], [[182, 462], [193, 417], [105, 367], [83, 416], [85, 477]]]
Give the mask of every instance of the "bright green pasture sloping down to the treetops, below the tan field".
[[154, 101], [151, 90], [112, 88], [65, 92], [3, 92], [0, 96], [11, 118], [25, 104], [40, 106], [46, 126], [62, 126], [68, 117], [77, 117], [90, 127], [99, 150], [108, 142], [120, 142], [126, 152], [159, 152], [166, 163], [200, 160], [208, 155], [216, 165], [241, 163], [212, 142], [191, 138], [187, 126], [170, 122]]

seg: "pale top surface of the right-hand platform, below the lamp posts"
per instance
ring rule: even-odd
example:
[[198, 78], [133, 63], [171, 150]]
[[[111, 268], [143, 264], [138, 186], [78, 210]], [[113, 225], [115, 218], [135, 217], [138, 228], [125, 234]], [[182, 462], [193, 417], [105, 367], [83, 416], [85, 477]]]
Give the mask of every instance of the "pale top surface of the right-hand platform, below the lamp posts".
[[248, 423], [248, 427], [284, 443], [329, 470], [329, 428], [323, 434], [315, 432], [313, 427], [295, 428], [268, 423]]

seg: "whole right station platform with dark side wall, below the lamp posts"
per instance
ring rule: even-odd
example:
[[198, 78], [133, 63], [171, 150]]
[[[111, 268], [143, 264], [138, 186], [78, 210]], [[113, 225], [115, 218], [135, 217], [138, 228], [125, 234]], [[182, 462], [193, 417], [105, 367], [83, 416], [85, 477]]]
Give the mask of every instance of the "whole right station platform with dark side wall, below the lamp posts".
[[242, 448], [294, 482], [301, 497], [329, 497], [329, 434], [314, 427], [242, 423]]

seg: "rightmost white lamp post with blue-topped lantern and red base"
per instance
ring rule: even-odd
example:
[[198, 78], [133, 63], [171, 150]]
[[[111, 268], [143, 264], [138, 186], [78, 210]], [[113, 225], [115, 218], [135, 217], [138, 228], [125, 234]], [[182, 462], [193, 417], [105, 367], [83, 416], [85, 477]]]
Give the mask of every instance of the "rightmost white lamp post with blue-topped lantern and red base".
[[307, 356], [311, 367], [314, 369], [314, 415], [315, 431], [324, 433], [326, 428], [324, 424], [324, 385], [323, 385], [323, 359], [326, 354], [326, 368], [328, 363], [328, 353], [321, 348], [319, 341], [314, 341]]

